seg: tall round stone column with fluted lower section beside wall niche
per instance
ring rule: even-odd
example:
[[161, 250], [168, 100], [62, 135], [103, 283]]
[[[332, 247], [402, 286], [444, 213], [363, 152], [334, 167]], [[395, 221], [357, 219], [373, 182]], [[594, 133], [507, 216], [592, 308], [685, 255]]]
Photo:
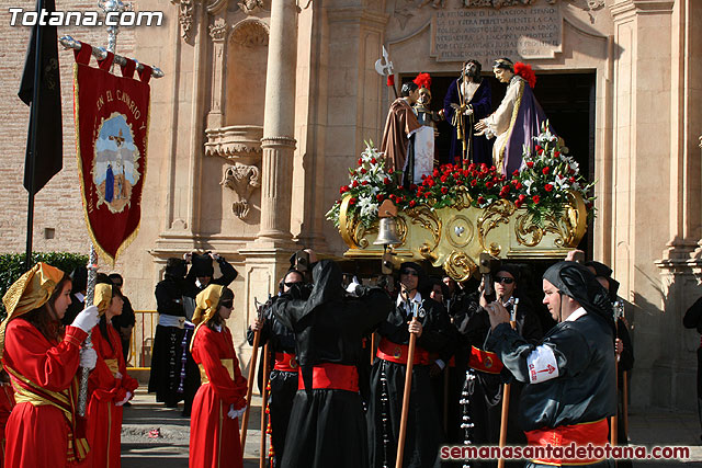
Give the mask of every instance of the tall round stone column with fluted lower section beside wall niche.
[[263, 118], [261, 230], [258, 244], [291, 243], [290, 210], [295, 150], [295, 75], [297, 66], [297, 5], [273, 0], [265, 77]]

